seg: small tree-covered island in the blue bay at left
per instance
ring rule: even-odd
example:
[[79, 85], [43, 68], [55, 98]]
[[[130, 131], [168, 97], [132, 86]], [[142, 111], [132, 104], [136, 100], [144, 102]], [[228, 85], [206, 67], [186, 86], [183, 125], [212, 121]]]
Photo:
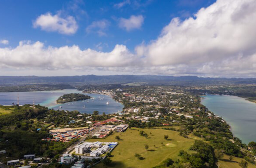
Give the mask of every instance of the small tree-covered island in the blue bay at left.
[[67, 103], [67, 102], [73, 102], [73, 101], [79, 101], [79, 100], [87, 100], [91, 97], [88, 95], [80, 94], [80, 93], [70, 93], [70, 94], [64, 94], [63, 96], [60, 96], [57, 99], [58, 104]]

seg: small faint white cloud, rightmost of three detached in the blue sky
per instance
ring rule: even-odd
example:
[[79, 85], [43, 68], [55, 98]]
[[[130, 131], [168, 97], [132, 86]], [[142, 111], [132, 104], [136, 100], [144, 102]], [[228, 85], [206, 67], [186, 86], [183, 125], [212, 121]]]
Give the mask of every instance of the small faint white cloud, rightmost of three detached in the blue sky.
[[140, 29], [142, 24], [144, 22], [144, 17], [142, 15], [138, 16], [130, 16], [130, 18], [120, 18], [119, 19], [119, 27], [125, 28], [127, 31], [133, 30], [133, 29]]

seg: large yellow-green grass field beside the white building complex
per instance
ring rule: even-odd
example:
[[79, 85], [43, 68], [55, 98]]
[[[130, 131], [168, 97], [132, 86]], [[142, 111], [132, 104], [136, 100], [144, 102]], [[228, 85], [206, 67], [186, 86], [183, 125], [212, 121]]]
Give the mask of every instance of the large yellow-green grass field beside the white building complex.
[[[149, 138], [140, 136], [138, 130], [146, 132]], [[115, 139], [117, 135], [120, 136], [121, 140], [117, 141]], [[164, 140], [164, 135], [169, 136], [168, 140]], [[176, 131], [141, 128], [132, 128], [126, 130], [126, 132], [114, 133], [106, 139], [90, 139], [88, 141], [119, 143], [112, 152], [114, 156], [111, 157], [113, 161], [111, 168], [151, 168], [160, 164], [166, 158], [176, 160], [181, 149], [188, 150], [194, 143], [193, 139], [179, 136]], [[144, 148], [144, 144], [148, 144], [148, 150]], [[145, 159], [138, 160], [134, 156], [135, 153], [141, 154]], [[102, 163], [94, 167], [102, 168]]]

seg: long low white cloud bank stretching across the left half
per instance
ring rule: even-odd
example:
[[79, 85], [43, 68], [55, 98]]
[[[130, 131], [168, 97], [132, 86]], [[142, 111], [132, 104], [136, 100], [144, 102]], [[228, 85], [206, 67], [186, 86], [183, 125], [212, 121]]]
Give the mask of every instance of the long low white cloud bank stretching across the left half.
[[42, 42], [22, 41], [16, 48], [0, 48], [0, 68], [86, 69], [86, 67], [129, 66], [135, 60], [126, 46], [116, 45], [111, 52], [81, 50], [78, 46], [44, 46]]

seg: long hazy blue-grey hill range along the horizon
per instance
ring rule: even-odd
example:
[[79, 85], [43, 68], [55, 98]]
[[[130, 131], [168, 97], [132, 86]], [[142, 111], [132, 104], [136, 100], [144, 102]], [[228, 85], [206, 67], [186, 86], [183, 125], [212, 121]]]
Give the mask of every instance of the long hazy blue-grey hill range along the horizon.
[[256, 78], [200, 78], [197, 76], [110, 75], [110, 76], [0, 76], [0, 85], [20, 84], [255, 84]]

